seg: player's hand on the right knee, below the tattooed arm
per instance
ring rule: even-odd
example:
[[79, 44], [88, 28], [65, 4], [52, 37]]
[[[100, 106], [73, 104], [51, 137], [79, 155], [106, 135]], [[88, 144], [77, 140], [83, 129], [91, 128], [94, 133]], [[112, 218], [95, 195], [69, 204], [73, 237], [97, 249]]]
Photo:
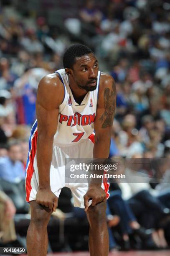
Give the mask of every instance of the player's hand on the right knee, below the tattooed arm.
[[89, 208], [89, 200], [92, 200], [91, 205], [95, 206], [101, 202], [106, 200], [106, 193], [104, 190], [99, 187], [98, 185], [90, 185], [89, 189], [87, 190], [86, 194], [84, 195], [84, 207], [85, 212]]

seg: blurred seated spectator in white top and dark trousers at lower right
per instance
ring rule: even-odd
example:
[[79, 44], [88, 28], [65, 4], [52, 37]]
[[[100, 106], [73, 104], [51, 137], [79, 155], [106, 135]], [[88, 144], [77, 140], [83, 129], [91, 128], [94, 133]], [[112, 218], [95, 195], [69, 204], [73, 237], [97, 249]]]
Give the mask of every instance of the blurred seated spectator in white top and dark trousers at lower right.
[[122, 189], [122, 196], [129, 203], [134, 215], [140, 219], [141, 225], [145, 226], [145, 228], [156, 229], [152, 238], [157, 246], [167, 248], [164, 229], [170, 215], [170, 191], [160, 194], [152, 193], [149, 184], [150, 177], [143, 173], [141, 160], [140, 162], [134, 161], [137, 160], [135, 158], [141, 159], [142, 155], [135, 154], [132, 157], [134, 159], [131, 161], [131, 168], [128, 166], [125, 169], [126, 181], [128, 183], [119, 184]]

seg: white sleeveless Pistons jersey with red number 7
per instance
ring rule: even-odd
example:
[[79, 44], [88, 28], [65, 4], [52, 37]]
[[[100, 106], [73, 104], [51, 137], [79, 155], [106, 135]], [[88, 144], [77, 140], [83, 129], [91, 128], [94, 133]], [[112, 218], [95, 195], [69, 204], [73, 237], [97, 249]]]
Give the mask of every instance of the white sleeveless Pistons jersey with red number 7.
[[59, 106], [58, 127], [53, 143], [58, 146], [71, 146], [87, 139], [94, 131], [100, 71], [96, 90], [87, 92], [80, 105], [74, 100], [65, 69], [59, 69], [56, 73], [63, 83], [65, 95]]

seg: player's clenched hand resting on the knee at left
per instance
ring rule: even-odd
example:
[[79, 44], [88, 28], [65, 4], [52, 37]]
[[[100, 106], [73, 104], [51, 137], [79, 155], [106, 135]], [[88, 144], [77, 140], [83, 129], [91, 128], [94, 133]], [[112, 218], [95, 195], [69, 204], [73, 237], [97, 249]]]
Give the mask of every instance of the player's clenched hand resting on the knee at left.
[[36, 195], [36, 202], [55, 212], [58, 206], [58, 197], [56, 197], [51, 189], [39, 189]]

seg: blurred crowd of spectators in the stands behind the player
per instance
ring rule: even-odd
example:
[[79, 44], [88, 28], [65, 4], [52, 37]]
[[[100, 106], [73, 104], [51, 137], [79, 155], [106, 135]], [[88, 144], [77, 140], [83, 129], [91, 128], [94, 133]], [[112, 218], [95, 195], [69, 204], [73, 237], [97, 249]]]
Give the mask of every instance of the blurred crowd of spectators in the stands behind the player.
[[[160, 168], [157, 164], [140, 166], [147, 180], [135, 184], [129, 179], [127, 183], [117, 181], [111, 185], [107, 208], [110, 248], [167, 248], [169, 1], [80, 0], [71, 4], [65, 0], [63, 6], [61, 1], [53, 6], [54, 1], [40, 0], [44, 10], [39, 13], [23, 8], [21, 2], [2, 0], [0, 5], [0, 218], [8, 225], [8, 229], [0, 225], [0, 243], [16, 240], [14, 225], [8, 221], [14, 218], [15, 211], [29, 211], [24, 199], [24, 179], [30, 127], [36, 119], [38, 82], [44, 75], [63, 68], [63, 52], [80, 42], [94, 51], [100, 70], [111, 74], [116, 82], [117, 109], [110, 158], [166, 159]], [[70, 12], [66, 12], [67, 6]], [[52, 17], [52, 10], [58, 10], [58, 16]], [[125, 172], [128, 177], [136, 175], [133, 168], [126, 168]], [[85, 218], [84, 212], [72, 207], [67, 189], [63, 195], [61, 210], [72, 212], [78, 220]], [[63, 212], [58, 212], [57, 217], [66, 218]], [[7, 239], [5, 230], [12, 232]]]

